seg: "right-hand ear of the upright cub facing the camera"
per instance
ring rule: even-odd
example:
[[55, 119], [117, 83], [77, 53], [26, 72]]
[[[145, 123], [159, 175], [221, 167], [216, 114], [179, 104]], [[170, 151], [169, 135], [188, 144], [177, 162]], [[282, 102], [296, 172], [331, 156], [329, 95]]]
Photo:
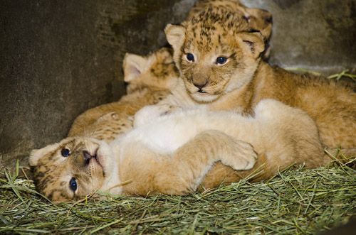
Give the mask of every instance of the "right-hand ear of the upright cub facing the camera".
[[258, 58], [265, 50], [264, 37], [260, 32], [239, 33], [241, 46], [253, 58]]

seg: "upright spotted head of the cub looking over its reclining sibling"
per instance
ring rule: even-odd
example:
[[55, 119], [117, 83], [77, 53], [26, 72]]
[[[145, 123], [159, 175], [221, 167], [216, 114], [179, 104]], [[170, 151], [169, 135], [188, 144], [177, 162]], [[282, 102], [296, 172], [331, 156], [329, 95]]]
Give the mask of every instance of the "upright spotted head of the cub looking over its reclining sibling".
[[213, 102], [251, 81], [266, 38], [239, 13], [206, 8], [184, 21], [168, 25], [167, 40], [192, 99]]

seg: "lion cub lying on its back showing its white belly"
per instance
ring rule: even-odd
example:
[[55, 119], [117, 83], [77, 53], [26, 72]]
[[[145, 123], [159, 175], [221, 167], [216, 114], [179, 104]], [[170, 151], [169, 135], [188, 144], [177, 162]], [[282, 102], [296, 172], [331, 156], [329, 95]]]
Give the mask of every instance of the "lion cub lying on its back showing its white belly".
[[96, 190], [186, 195], [206, 186], [204, 176], [218, 160], [243, 175], [256, 159], [257, 165], [273, 170], [292, 163], [315, 168], [328, 161], [318, 129], [304, 111], [267, 99], [254, 113], [246, 117], [198, 108], [157, 114], [110, 146], [93, 138], [66, 138], [31, 153], [36, 185], [56, 202]]

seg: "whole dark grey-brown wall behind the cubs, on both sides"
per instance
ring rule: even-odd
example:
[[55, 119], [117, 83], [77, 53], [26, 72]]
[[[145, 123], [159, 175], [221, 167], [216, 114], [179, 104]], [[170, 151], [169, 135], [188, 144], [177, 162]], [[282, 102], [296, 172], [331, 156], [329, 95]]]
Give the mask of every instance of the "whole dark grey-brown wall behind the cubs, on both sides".
[[[356, 72], [356, 0], [243, 0], [273, 13], [272, 64]], [[0, 166], [66, 136], [85, 109], [124, 94], [126, 52], [166, 44], [194, 0], [5, 0], [0, 15]], [[26, 162], [23, 162], [26, 163]]]

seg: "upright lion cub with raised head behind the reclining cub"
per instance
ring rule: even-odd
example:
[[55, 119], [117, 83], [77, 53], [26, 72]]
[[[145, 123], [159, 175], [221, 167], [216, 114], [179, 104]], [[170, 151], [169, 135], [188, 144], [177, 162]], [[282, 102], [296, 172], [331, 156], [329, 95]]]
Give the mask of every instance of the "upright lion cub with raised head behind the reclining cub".
[[[213, 110], [251, 114], [261, 99], [277, 99], [306, 111], [329, 148], [356, 147], [356, 95], [318, 77], [295, 75], [261, 60], [263, 33], [228, 7], [206, 7], [181, 26], [168, 25], [167, 40], [181, 82], [161, 104], [208, 104]], [[184, 83], [184, 84], [182, 84]]]

